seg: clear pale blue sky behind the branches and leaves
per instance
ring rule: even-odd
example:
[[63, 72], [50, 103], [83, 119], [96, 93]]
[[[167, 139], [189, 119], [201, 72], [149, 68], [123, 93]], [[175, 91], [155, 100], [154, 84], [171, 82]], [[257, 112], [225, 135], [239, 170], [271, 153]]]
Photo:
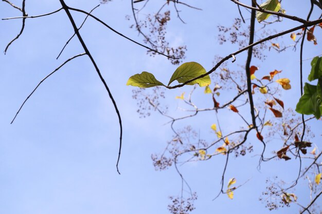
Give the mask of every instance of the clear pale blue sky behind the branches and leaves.
[[[12, 2], [21, 4], [17, 0]], [[69, 0], [66, 3], [90, 11], [99, 1]], [[214, 55], [226, 56], [238, 49], [218, 44], [217, 26], [231, 25], [239, 13], [230, 1], [191, 0], [189, 3], [203, 11], [181, 8], [187, 24], [182, 24], [174, 15], [167, 36], [174, 45], [188, 46], [185, 62], [199, 62], [209, 70]], [[288, 14], [306, 18], [309, 4], [299, 0], [283, 3]], [[29, 15], [58, 8], [58, 0], [26, 1]], [[130, 1], [114, 0], [101, 5], [93, 14], [141, 42], [137, 32], [129, 28], [131, 21], [125, 18], [131, 13]], [[246, 17], [249, 15], [246, 10], [243, 13]], [[320, 11], [314, 11], [313, 17], [319, 14]], [[75, 12], [73, 15], [80, 24], [84, 15]], [[1, 2], [0, 16], [21, 16], [21, 13]], [[284, 21], [276, 25], [277, 31], [298, 24]], [[20, 27], [21, 20], [0, 22], [0, 49], [5, 49]], [[318, 43], [321, 32], [321, 29], [316, 29]], [[139, 119], [136, 101], [132, 99], [133, 88], [126, 86], [126, 82], [131, 75], [141, 71], [152, 72], [160, 81], [167, 82], [176, 66], [163, 56], [148, 56], [144, 48], [124, 40], [91, 18], [81, 29], [81, 34], [114, 94], [123, 119], [121, 175], [115, 167], [119, 138], [117, 116], [108, 93], [86, 56], [68, 63], [46, 80], [10, 125], [23, 100], [43, 77], [69, 57], [83, 52], [74, 38], [56, 60], [65, 42], [73, 35], [63, 11], [29, 19], [19, 40], [11, 45], [6, 55], [0, 54], [0, 214], [168, 213], [168, 196], [180, 194], [181, 180], [173, 167], [155, 171], [151, 154], [161, 152], [172, 133], [169, 126], [163, 125], [167, 120], [162, 116], [152, 114], [149, 118]], [[289, 35], [279, 42], [282, 41], [290, 43]], [[306, 44], [304, 58], [321, 54], [320, 47]], [[282, 97], [287, 107], [295, 108], [300, 95], [296, 87], [299, 84], [299, 52], [289, 50], [275, 54], [271, 50], [267, 55], [264, 62], [253, 60], [252, 64], [262, 70], [283, 70], [295, 87], [283, 91]], [[236, 63], [243, 65], [244, 57], [245, 54], [238, 55]], [[307, 76], [310, 61], [305, 61], [304, 69]], [[174, 96], [183, 91], [185, 89], [167, 93], [168, 102], [173, 103], [170, 112], [178, 111], [176, 108], [180, 101]], [[190, 122], [210, 127], [211, 120], [207, 115], [201, 115]], [[229, 125], [238, 127], [233, 121], [229, 119]], [[314, 143], [320, 143], [321, 122], [314, 121], [310, 125], [316, 133]], [[204, 135], [211, 131], [200, 130]], [[252, 138], [250, 141], [258, 144]], [[235, 192], [234, 200], [223, 195], [212, 201], [220, 189], [224, 157], [182, 167], [187, 181], [199, 196], [196, 210], [192, 213], [269, 213], [258, 201], [265, 188], [265, 179], [279, 174], [291, 182], [296, 176], [298, 162], [264, 163], [258, 171], [258, 157], [254, 155], [260, 152], [261, 145], [254, 147], [252, 155], [232, 160], [228, 168], [229, 178], [235, 177], [240, 183], [251, 179]], [[306, 185], [302, 181], [296, 188], [296, 194], [303, 196], [301, 202], [304, 204], [309, 200]], [[294, 213], [297, 210], [298, 206], [291, 206], [277, 212]]]

